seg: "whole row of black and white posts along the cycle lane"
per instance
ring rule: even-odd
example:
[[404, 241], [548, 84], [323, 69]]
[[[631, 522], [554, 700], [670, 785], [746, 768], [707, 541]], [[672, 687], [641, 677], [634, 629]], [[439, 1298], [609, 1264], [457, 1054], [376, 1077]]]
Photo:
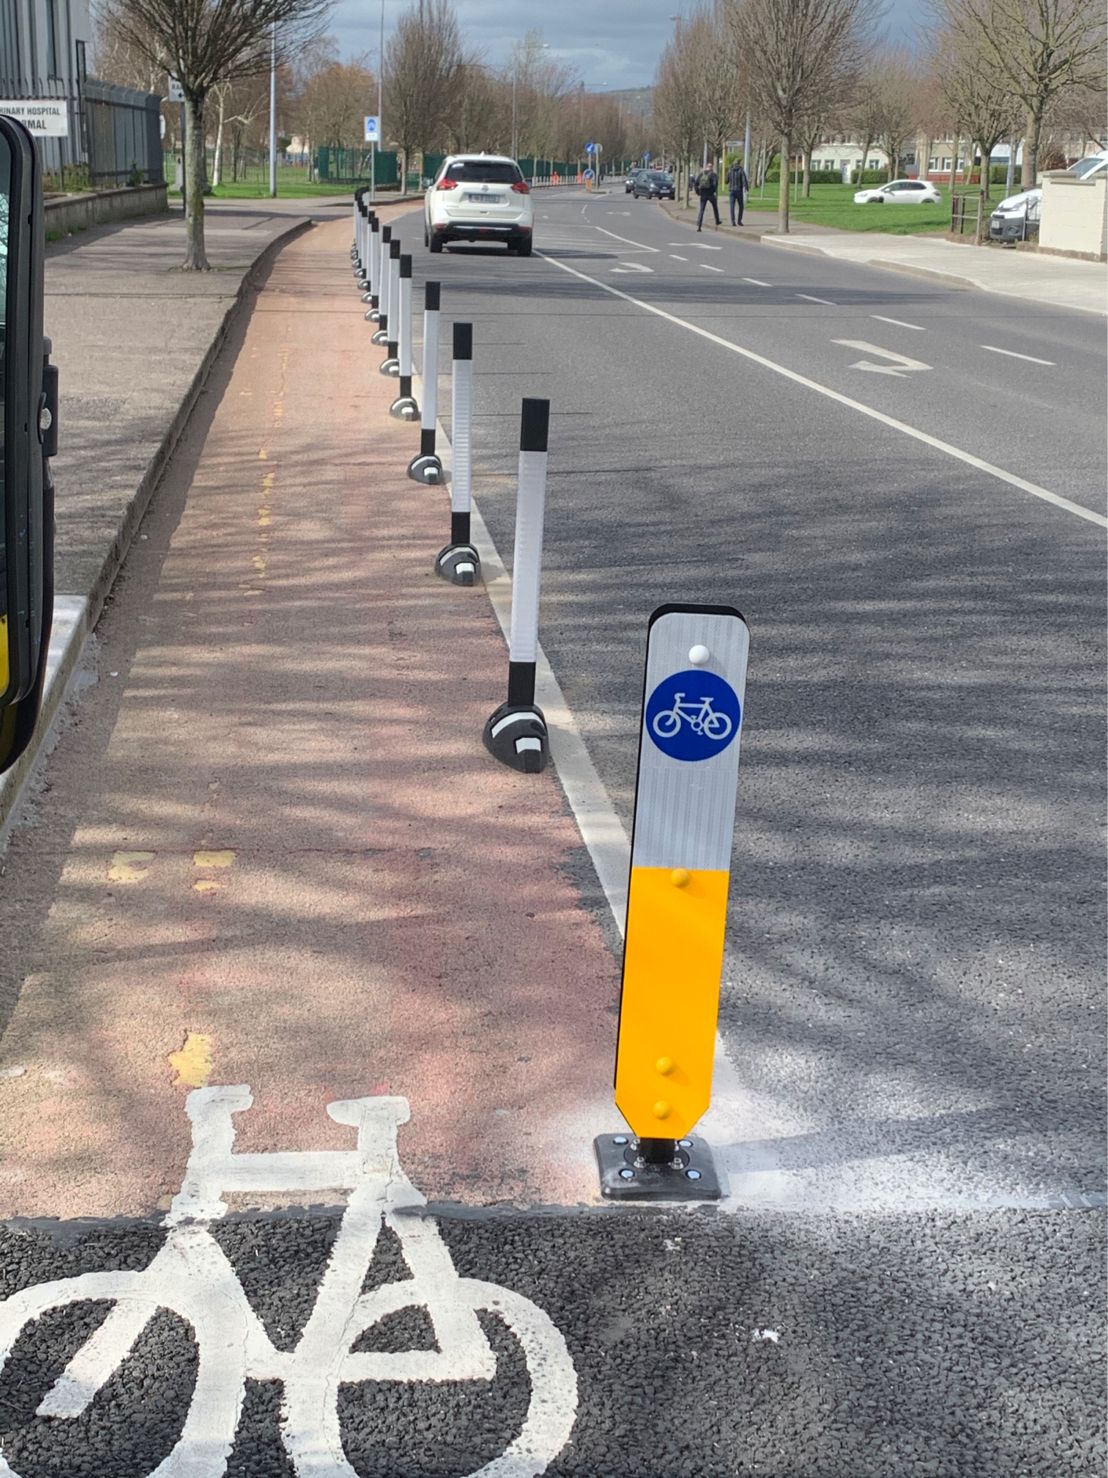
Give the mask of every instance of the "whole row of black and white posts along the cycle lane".
[[[375, 325], [371, 343], [384, 346], [386, 358], [380, 372], [400, 381], [400, 393], [389, 411], [397, 420], [420, 421], [420, 451], [408, 464], [408, 476], [427, 485], [445, 482], [446, 473], [437, 454], [440, 284], [424, 285], [420, 403], [412, 392], [412, 259], [402, 253], [399, 236], [393, 235], [391, 226], [377, 219], [360, 189], [355, 192], [350, 259], [366, 304], [365, 316]], [[482, 566], [471, 531], [473, 324], [454, 325], [451, 433], [451, 537], [436, 556], [434, 572], [454, 585], [476, 585]], [[483, 733], [485, 746], [496, 760], [526, 774], [536, 774], [550, 758], [547, 720], [535, 704], [548, 436], [550, 401], [524, 399], [520, 417], [508, 696], [490, 714]]]

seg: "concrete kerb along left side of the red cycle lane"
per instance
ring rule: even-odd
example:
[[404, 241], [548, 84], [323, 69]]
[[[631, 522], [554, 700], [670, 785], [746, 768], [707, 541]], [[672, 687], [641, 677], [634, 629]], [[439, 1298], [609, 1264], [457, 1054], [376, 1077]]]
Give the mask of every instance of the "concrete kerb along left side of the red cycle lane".
[[244, 310], [247, 297], [254, 291], [259, 276], [269, 268], [272, 259], [278, 254], [278, 251], [288, 245], [290, 241], [294, 241], [298, 235], [303, 235], [303, 232], [310, 231], [312, 226], [312, 220], [293, 222], [293, 225], [266, 244], [264, 250], [259, 253], [254, 262], [251, 262], [242, 273], [233, 302], [228, 307], [219, 328], [213, 334], [211, 343], [204, 352], [204, 358], [189, 383], [189, 389], [185, 392], [185, 398], [180, 402], [176, 415], [170, 421], [158, 449], [151, 457], [146, 470], [134, 489], [134, 495], [123, 510], [118, 529], [108, 545], [103, 563], [93, 579], [92, 590], [87, 596], [59, 594], [55, 599], [55, 630], [50, 633], [46, 686], [43, 689], [43, 708], [38, 717], [35, 736], [12, 769], [4, 776], [0, 776], [0, 853], [3, 853], [7, 847], [7, 838], [12, 831], [15, 813], [25, 798], [28, 782], [40, 758], [47, 755], [56, 742], [55, 723], [72, 686], [74, 675], [80, 665], [81, 652], [84, 650], [84, 643], [89, 634], [96, 628], [96, 622], [100, 618], [108, 593], [115, 584], [115, 576], [127, 557], [127, 551], [134, 539], [139, 525], [142, 523], [143, 514], [149, 507], [154, 491], [161, 480], [165, 464], [185, 433], [189, 417], [192, 415], [196, 401], [208, 381], [211, 368], [223, 349], [228, 334], [236, 322], [238, 315]]

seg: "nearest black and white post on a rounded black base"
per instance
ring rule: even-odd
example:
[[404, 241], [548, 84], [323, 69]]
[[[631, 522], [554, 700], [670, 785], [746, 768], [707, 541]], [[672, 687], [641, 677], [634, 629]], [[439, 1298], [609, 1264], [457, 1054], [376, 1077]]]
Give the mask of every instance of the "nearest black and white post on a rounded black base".
[[511, 565], [508, 701], [489, 715], [483, 735], [490, 755], [524, 774], [538, 774], [550, 758], [547, 720], [535, 704], [548, 437], [550, 401], [524, 399]]

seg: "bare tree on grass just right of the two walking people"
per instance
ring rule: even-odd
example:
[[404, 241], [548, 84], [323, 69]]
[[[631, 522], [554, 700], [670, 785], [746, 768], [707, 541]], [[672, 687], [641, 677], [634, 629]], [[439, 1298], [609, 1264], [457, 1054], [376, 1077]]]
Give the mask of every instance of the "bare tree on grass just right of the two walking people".
[[818, 101], [848, 95], [876, 21], [875, 0], [728, 0], [750, 98], [782, 140], [777, 229], [789, 231], [789, 161]]

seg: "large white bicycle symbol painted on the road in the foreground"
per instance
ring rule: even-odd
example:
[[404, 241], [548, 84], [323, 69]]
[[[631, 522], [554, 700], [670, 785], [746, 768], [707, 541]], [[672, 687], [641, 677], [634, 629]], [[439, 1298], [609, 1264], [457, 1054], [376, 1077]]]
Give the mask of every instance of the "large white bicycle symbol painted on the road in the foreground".
[[[160, 1310], [194, 1330], [199, 1358], [180, 1438], [148, 1478], [220, 1478], [238, 1428], [247, 1377], [284, 1383], [281, 1434], [300, 1478], [358, 1478], [343, 1451], [338, 1388], [359, 1380], [490, 1380], [496, 1355], [477, 1318], [495, 1314], [510, 1329], [530, 1373], [523, 1428], [505, 1451], [471, 1478], [536, 1478], [569, 1441], [578, 1379], [566, 1341], [529, 1299], [495, 1283], [462, 1278], [425, 1199], [400, 1168], [396, 1132], [405, 1098], [349, 1098], [328, 1104], [335, 1123], [358, 1129], [355, 1150], [235, 1154], [232, 1114], [250, 1108], [248, 1088], [189, 1094], [192, 1151], [185, 1182], [165, 1216], [168, 1233], [139, 1273], [86, 1273], [41, 1283], [0, 1304], [0, 1372], [27, 1324], [86, 1299], [114, 1308], [77, 1351], [38, 1406], [46, 1417], [77, 1417], [127, 1358]], [[350, 1193], [312, 1314], [297, 1346], [275, 1349], [232, 1264], [208, 1230], [228, 1210], [223, 1191]], [[399, 1239], [411, 1278], [362, 1293], [381, 1227]], [[425, 1308], [437, 1349], [356, 1352], [366, 1329], [406, 1308]], [[0, 1478], [18, 1474], [0, 1453]]]

